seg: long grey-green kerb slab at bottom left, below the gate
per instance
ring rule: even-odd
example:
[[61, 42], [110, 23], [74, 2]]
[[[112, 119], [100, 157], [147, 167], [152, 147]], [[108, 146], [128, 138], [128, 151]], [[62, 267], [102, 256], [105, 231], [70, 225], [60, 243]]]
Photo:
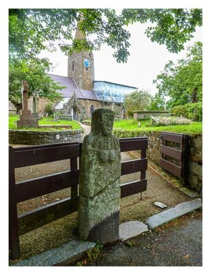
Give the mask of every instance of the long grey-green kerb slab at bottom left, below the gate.
[[95, 243], [88, 241], [69, 241], [59, 248], [53, 248], [30, 259], [19, 261], [12, 266], [52, 266], [67, 265], [86, 256], [86, 252], [94, 248]]

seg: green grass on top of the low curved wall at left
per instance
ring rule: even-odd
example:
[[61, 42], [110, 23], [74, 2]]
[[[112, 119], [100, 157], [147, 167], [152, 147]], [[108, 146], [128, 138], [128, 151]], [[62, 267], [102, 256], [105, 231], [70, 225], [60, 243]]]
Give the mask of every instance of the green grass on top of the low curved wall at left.
[[[15, 122], [19, 120], [19, 115], [9, 115], [9, 129], [17, 129]], [[70, 121], [70, 120], [60, 120], [59, 122], [54, 121], [53, 118], [43, 118], [39, 120], [39, 125], [71, 125], [72, 130], [82, 129], [81, 125], [77, 121]], [[52, 129], [52, 128], [21, 128], [21, 129], [28, 129], [33, 131], [58, 131], [59, 129]], [[62, 129], [62, 127], [61, 127]], [[68, 129], [66, 129], [68, 130]]]

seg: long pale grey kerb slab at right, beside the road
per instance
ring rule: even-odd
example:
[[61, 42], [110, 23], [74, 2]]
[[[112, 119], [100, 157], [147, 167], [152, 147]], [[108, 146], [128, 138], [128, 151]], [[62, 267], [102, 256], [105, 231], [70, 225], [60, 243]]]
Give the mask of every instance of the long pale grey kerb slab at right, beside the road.
[[177, 219], [184, 214], [188, 214], [193, 210], [197, 210], [201, 208], [201, 199], [194, 199], [192, 201], [185, 201], [183, 203], [179, 203], [174, 208], [170, 208], [159, 214], [154, 214], [152, 217], [148, 218], [146, 221], [149, 229], [157, 228], [163, 223], [167, 223], [168, 221], [172, 221], [172, 219]]

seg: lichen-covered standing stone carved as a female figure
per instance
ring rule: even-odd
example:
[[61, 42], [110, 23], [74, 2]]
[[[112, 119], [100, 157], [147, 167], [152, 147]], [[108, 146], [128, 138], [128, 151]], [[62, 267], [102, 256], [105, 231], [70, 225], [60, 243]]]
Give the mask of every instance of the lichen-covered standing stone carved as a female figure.
[[112, 243], [119, 239], [121, 151], [112, 135], [114, 112], [92, 113], [91, 131], [84, 137], [79, 176], [79, 236]]

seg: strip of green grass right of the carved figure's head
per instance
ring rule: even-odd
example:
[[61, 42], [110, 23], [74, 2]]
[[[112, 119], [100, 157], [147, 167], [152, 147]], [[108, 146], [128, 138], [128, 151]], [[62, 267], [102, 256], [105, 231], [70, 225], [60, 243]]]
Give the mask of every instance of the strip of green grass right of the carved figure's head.
[[[141, 123], [141, 127], [138, 123]], [[188, 125], [172, 126], [146, 126], [150, 120], [118, 120], [114, 122], [114, 129], [135, 130], [135, 131], [170, 131], [175, 133], [202, 133], [202, 122], [192, 122]]]

